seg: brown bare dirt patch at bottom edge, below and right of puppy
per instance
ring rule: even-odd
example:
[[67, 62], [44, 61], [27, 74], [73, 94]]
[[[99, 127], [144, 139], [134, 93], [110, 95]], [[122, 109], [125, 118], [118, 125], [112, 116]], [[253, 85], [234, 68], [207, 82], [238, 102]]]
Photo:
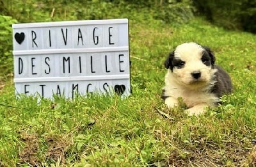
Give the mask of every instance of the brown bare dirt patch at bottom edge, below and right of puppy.
[[[247, 154], [248, 150], [235, 145], [227, 145], [222, 149], [218, 147], [175, 149], [169, 156], [168, 166], [243, 166]], [[251, 161], [256, 164], [256, 149], [251, 155]]]

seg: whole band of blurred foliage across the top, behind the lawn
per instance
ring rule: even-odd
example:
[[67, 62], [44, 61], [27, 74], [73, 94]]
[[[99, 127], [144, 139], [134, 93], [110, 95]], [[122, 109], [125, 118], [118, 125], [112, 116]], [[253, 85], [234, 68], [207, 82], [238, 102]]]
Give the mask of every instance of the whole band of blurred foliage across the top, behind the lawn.
[[13, 71], [13, 23], [128, 18], [179, 25], [195, 16], [224, 28], [256, 33], [256, 1], [250, 0], [0, 0], [0, 76]]

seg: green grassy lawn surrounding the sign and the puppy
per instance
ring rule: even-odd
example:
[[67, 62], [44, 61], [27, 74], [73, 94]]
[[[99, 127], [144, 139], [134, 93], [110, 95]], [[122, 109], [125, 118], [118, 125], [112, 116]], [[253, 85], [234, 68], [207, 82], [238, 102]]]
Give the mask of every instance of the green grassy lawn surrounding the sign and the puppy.
[[[253, 166], [256, 163], [255, 35], [195, 18], [172, 25], [131, 19], [132, 95], [17, 100], [0, 86], [0, 166]], [[223, 105], [200, 116], [161, 100], [168, 52], [208, 45], [234, 83]]]

